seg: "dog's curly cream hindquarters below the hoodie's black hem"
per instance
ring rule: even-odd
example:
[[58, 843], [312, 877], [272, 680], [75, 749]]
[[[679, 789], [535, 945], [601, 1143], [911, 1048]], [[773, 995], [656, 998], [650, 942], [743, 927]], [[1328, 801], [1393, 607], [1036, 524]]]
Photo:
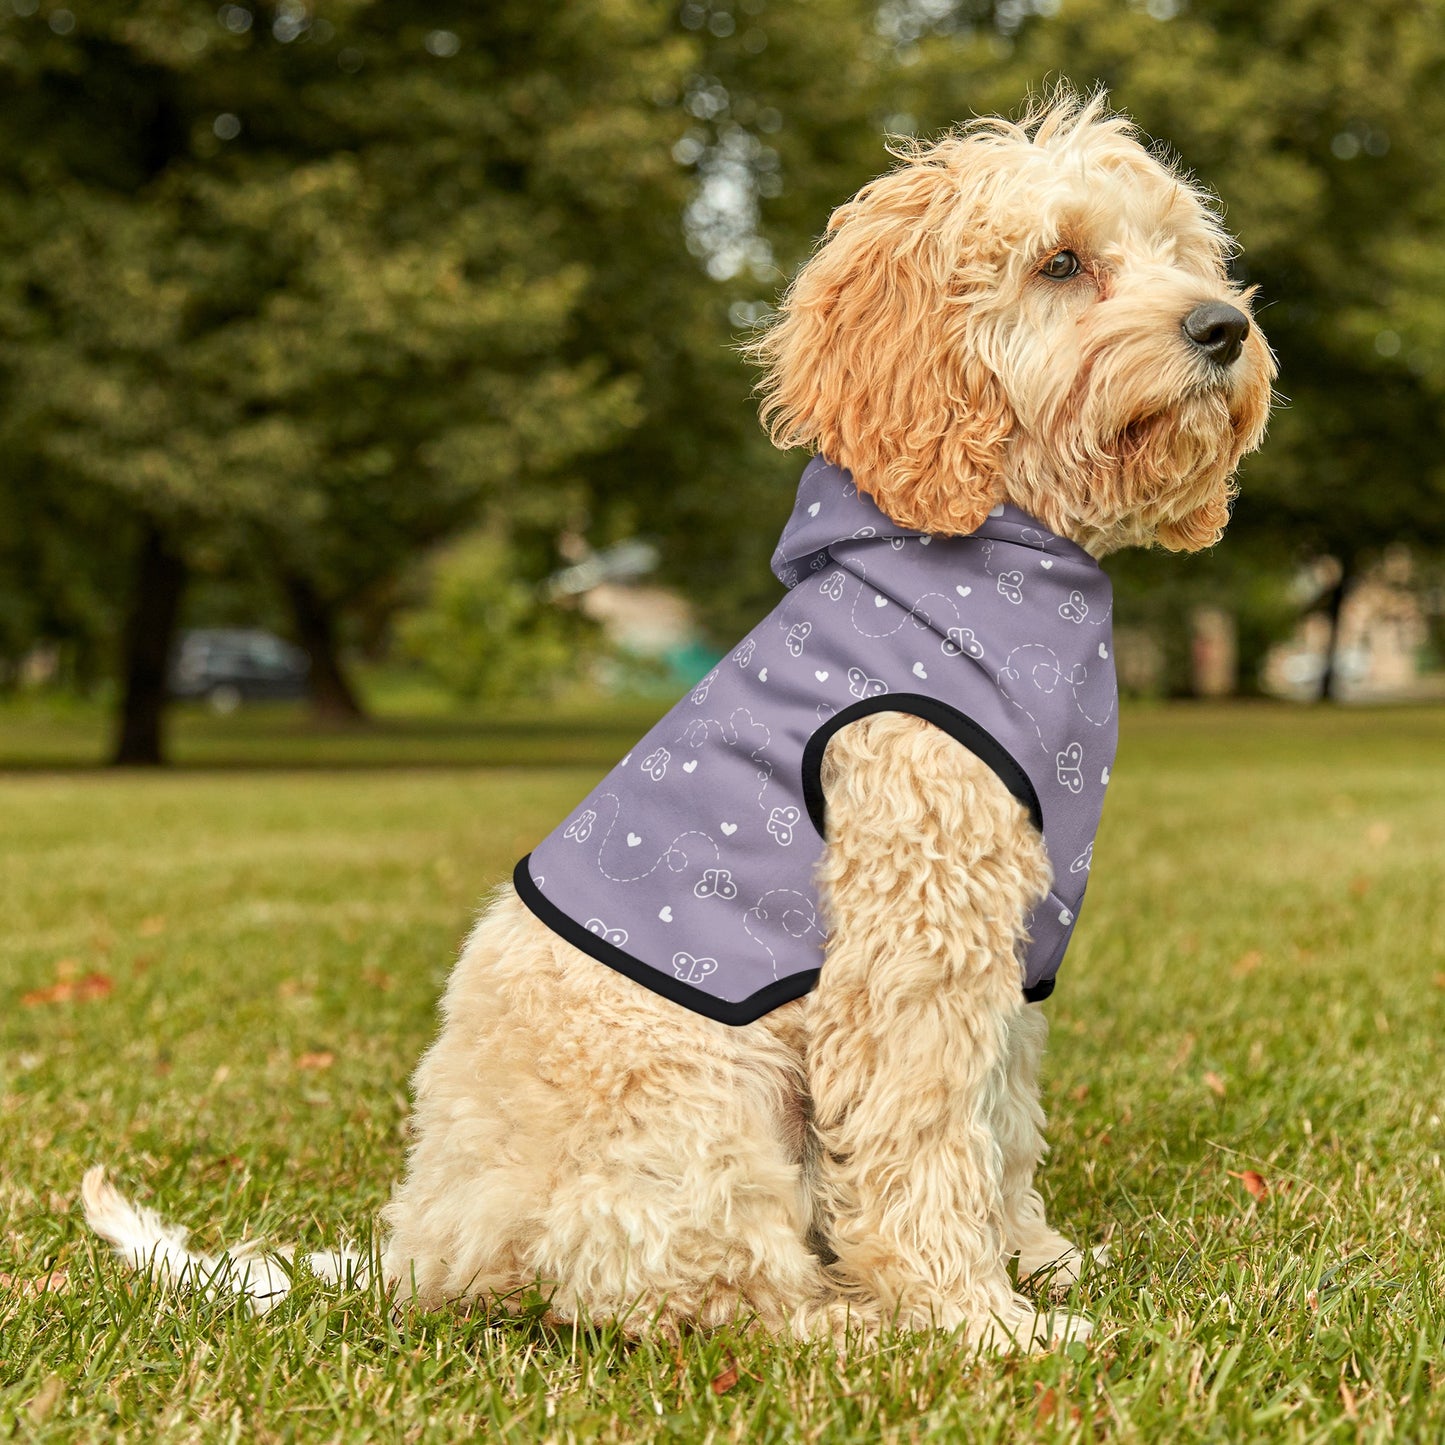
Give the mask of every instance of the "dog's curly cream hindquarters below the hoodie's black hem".
[[416, 1074], [386, 1218], [403, 1298], [540, 1289], [558, 1319], [675, 1334], [822, 1292], [806, 1244], [802, 1004], [741, 1029], [578, 952], [504, 889]]

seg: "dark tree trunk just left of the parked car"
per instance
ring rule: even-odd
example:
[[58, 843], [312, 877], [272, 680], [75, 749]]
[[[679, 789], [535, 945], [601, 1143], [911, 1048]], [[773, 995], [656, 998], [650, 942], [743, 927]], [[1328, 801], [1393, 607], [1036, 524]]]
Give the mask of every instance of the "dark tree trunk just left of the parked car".
[[111, 762], [117, 767], [159, 767], [165, 762], [162, 724], [166, 668], [175, 640], [185, 562], [171, 551], [155, 523], [146, 523], [136, 561], [136, 582], [126, 618], [120, 727]]

